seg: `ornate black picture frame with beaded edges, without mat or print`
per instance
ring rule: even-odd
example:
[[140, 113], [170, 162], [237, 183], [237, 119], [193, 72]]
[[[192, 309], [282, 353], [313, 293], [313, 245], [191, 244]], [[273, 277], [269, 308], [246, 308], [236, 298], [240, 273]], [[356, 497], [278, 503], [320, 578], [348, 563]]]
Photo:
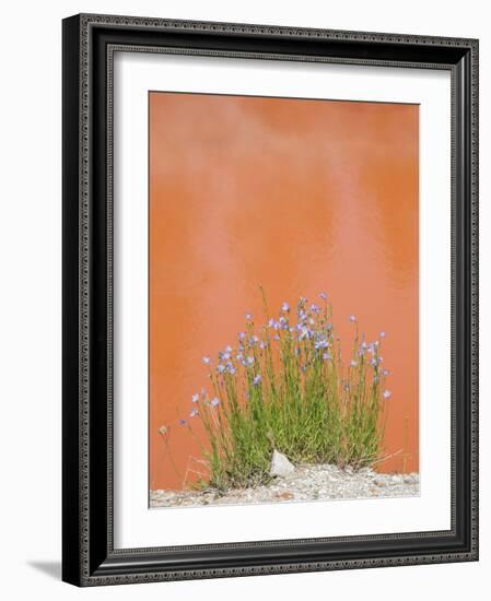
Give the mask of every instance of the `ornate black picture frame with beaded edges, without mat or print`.
[[[112, 61], [121, 47], [451, 72], [448, 531], [114, 547]], [[477, 561], [478, 42], [82, 14], [63, 21], [62, 80], [63, 580], [97, 586]]]

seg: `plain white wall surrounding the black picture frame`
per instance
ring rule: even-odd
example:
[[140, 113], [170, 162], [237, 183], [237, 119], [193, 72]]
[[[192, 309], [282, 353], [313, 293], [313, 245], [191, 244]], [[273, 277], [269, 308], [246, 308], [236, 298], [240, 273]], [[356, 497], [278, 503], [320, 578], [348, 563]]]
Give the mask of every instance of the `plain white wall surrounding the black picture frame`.
[[[79, 590], [60, 579], [61, 19], [78, 12], [235, 21], [481, 40], [481, 561]], [[0, 589], [5, 599], [486, 598], [491, 569], [491, 33], [487, 2], [100, 0], [2, 10], [0, 149]], [[489, 587], [486, 587], [489, 588]], [[480, 592], [482, 590], [482, 592]]]

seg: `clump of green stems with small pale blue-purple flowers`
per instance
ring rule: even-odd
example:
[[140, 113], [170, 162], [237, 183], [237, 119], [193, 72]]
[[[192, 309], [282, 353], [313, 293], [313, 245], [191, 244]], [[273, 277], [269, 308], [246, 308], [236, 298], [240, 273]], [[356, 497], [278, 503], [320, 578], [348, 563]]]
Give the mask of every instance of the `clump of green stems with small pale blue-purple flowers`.
[[209, 366], [213, 392], [192, 397], [189, 427], [200, 420], [207, 440], [208, 486], [226, 490], [267, 483], [273, 449], [296, 463], [336, 463], [359, 469], [381, 457], [388, 372], [382, 367], [382, 332], [366, 343], [353, 323], [351, 357], [344, 365], [332, 307], [301, 298], [283, 303], [278, 318], [257, 327], [246, 315], [237, 343]]

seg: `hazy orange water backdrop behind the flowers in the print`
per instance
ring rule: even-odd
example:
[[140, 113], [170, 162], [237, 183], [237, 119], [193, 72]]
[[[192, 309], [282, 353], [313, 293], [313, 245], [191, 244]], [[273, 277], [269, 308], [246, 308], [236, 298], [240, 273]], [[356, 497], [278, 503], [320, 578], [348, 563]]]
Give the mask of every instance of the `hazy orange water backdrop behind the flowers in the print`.
[[378, 469], [419, 470], [418, 123], [417, 105], [150, 93], [151, 488], [203, 471], [178, 420], [201, 357], [260, 321], [260, 285], [276, 310], [326, 291], [346, 349], [351, 314], [386, 332]]

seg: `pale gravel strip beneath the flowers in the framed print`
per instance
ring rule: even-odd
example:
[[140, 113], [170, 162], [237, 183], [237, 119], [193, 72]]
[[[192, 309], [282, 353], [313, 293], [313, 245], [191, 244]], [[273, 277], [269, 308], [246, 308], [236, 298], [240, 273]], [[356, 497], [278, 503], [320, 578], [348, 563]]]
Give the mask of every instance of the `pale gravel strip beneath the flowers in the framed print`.
[[339, 498], [409, 497], [420, 494], [419, 474], [381, 474], [370, 468], [353, 471], [337, 466], [300, 466], [294, 473], [262, 486], [204, 491], [151, 491], [150, 507], [292, 503]]

